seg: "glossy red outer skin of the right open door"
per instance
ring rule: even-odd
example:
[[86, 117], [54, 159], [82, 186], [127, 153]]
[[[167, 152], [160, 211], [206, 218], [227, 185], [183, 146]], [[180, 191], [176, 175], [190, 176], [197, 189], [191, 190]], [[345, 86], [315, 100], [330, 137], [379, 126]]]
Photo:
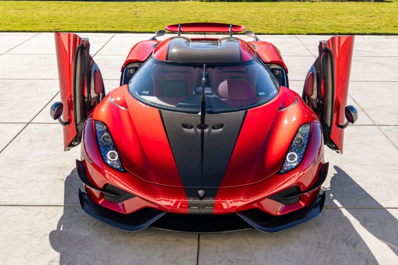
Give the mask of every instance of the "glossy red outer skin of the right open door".
[[327, 49], [330, 49], [333, 55], [334, 69], [333, 126], [330, 138], [341, 153], [343, 153], [344, 129], [338, 128], [338, 125], [345, 123], [344, 109], [347, 106], [353, 48], [354, 36], [336, 36], [327, 41]]

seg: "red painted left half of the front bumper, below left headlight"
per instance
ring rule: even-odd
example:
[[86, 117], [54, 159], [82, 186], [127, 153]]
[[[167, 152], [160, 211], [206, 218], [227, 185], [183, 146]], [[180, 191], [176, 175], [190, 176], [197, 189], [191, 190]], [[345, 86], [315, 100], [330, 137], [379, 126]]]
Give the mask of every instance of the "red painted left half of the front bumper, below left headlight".
[[[97, 187], [102, 188], [106, 183], [111, 183], [140, 198], [132, 198], [121, 203], [111, 203], [103, 200], [101, 192], [86, 186], [90, 190], [89, 196], [96, 203], [121, 213], [131, 213], [142, 207], [159, 208], [163, 211], [173, 209], [176, 213], [188, 213], [188, 202], [184, 188], [153, 184], [142, 180], [130, 172], [121, 173], [105, 165], [100, 157], [97, 139], [94, 133], [93, 118], [90, 117], [85, 124], [82, 141], [82, 161], [86, 167], [89, 180]], [[110, 132], [114, 138], [114, 133]], [[117, 139], [114, 139], [116, 143]], [[118, 152], [125, 145], [117, 144]], [[123, 166], [126, 161], [122, 160]]]

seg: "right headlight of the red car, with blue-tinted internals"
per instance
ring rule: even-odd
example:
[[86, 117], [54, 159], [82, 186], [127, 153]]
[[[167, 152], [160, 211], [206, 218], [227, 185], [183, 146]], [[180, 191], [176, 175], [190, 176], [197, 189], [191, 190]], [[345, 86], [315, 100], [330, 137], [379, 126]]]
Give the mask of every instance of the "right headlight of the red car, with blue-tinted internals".
[[302, 158], [304, 157], [305, 149], [308, 145], [310, 131], [311, 123], [303, 124], [298, 128], [295, 138], [293, 138], [293, 141], [290, 144], [282, 168], [278, 173], [282, 174], [288, 172], [300, 165]]

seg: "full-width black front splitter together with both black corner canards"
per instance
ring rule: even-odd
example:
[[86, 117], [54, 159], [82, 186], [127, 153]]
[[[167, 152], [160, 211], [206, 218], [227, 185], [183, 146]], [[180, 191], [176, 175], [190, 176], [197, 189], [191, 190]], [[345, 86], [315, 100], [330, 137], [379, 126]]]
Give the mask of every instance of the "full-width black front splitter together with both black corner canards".
[[[318, 173], [317, 181], [305, 191], [296, 194], [313, 193], [319, 190], [326, 178], [327, 166], [324, 164]], [[77, 171], [88, 191], [104, 193], [90, 182], [84, 164], [77, 161]], [[92, 191], [91, 191], [92, 192]], [[106, 193], [106, 192], [105, 192]], [[108, 195], [112, 196], [112, 194]], [[314, 194], [315, 195], [315, 194]], [[93, 201], [87, 192], [79, 190], [80, 204], [83, 210], [95, 219], [123, 231], [135, 232], [148, 226], [185, 233], [223, 233], [256, 228], [265, 233], [281, 232], [316, 217], [322, 210], [325, 192], [316, 194], [311, 203], [282, 215], [271, 215], [259, 208], [252, 208], [228, 214], [179, 214], [167, 212], [162, 208], [143, 207], [132, 213], [120, 213]], [[289, 197], [288, 197], [289, 198]]]

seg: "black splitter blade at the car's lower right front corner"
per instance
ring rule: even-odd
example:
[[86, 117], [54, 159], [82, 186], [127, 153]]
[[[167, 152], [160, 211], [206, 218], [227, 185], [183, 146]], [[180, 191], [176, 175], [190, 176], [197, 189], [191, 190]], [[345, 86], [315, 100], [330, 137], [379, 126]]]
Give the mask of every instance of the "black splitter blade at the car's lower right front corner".
[[322, 211], [325, 198], [325, 192], [318, 194], [314, 202], [310, 205], [281, 216], [271, 216], [260, 210], [238, 212], [237, 215], [261, 232], [278, 233], [308, 222], [316, 217]]

